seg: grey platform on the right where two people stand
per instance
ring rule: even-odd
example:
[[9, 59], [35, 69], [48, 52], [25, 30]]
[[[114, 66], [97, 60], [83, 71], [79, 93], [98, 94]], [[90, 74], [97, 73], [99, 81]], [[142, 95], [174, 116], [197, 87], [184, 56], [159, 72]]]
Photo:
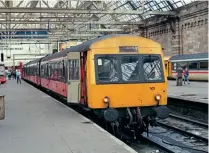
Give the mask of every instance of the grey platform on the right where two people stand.
[[176, 86], [176, 81], [169, 80], [168, 97], [208, 103], [208, 83], [190, 82], [189, 85]]

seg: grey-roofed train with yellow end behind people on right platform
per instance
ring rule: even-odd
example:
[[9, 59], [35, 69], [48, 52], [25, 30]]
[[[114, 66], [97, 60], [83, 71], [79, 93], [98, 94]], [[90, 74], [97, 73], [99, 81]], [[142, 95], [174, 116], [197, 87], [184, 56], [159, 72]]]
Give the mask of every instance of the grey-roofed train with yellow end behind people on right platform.
[[189, 80], [208, 81], [208, 53], [184, 54], [164, 57], [168, 79], [176, 79], [176, 69], [180, 65], [189, 69]]

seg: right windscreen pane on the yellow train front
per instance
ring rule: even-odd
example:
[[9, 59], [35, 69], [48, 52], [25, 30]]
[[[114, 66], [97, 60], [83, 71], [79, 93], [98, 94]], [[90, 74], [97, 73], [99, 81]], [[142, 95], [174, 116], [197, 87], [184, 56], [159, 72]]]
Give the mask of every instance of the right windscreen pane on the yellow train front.
[[144, 78], [149, 81], [163, 80], [161, 58], [158, 56], [144, 56], [143, 58]]

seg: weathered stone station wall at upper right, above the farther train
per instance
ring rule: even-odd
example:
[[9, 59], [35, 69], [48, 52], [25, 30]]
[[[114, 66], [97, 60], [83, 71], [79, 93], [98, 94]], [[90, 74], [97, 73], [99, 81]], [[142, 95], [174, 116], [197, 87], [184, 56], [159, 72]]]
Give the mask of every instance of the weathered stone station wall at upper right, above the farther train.
[[161, 43], [165, 56], [208, 52], [208, 1], [190, 3], [176, 12], [176, 17], [146, 20], [139, 35]]

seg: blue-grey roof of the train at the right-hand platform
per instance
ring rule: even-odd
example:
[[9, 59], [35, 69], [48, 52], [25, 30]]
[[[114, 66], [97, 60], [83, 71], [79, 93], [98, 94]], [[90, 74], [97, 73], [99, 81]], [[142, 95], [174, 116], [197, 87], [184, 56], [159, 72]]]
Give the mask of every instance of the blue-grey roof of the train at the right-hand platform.
[[184, 55], [174, 55], [169, 60], [170, 61], [180, 61], [180, 60], [193, 60], [193, 59], [208, 59], [208, 53], [197, 53], [197, 54], [184, 54]]

